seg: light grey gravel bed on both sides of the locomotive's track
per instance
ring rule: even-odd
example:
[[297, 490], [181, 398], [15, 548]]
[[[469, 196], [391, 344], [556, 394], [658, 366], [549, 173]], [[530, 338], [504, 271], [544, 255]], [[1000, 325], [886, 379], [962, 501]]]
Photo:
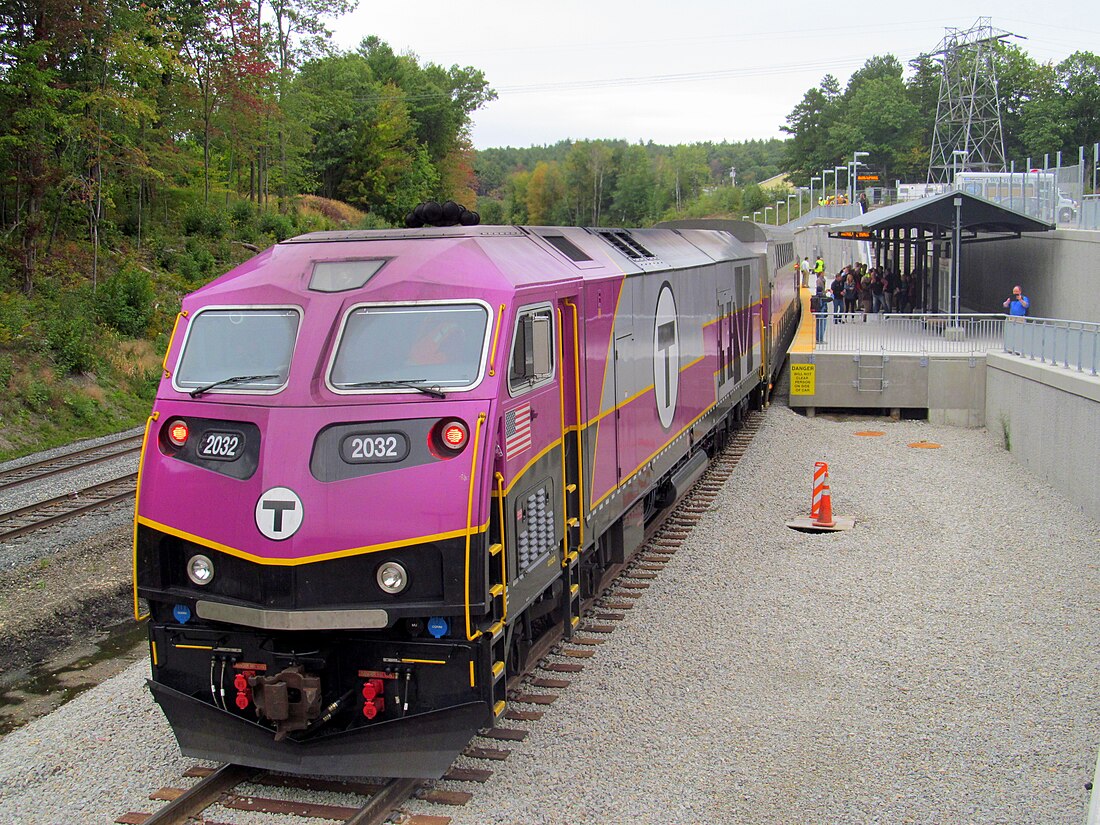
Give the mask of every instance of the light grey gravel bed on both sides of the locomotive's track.
[[[941, 448], [909, 447], [921, 441]], [[784, 526], [807, 515], [820, 460], [849, 532]], [[527, 740], [504, 762], [460, 760], [494, 776], [446, 814], [1077, 825], [1100, 747], [1098, 549], [1100, 525], [990, 433], [773, 408], [584, 671], [541, 721], [508, 723]], [[146, 673], [139, 663], [0, 741], [0, 822], [111, 822], [183, 782], [195, 761]], [[444, 813], [409, 805], [429, 810]]]

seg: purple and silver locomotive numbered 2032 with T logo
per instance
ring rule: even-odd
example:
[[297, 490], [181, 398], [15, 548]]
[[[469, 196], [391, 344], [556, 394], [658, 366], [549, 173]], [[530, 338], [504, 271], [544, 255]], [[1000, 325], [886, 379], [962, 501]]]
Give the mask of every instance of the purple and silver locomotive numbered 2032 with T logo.
[[134, 607], [187, 756], [441, 776], [507, 675], [767, 398], [790, 239], [322, 232], [184, 300]]

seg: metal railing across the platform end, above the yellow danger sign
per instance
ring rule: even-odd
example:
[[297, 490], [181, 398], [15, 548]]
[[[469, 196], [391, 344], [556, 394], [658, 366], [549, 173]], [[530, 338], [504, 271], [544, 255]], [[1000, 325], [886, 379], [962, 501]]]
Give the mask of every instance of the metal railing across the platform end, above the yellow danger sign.
[[[814, 318], [817, 350], [981, 354], [1004, 349], [1003, 315], [821, 312]], [[824, 328], [824, 329], [822, 329]]]

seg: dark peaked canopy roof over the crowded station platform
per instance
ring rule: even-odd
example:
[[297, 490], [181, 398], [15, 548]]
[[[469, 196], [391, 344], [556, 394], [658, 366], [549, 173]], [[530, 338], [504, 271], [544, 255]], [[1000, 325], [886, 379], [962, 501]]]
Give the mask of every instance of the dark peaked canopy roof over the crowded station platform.
[[[960, 199], [956, 215], [955, 199]], [[920, 200], [873, 209], [857, 215], [829, 227], [829, 238], [857, 241], [891, 242], [899, 233], [905, 232], [910, 239], [949, 239], [956, 229], [960, 232], [960, 243], [970, 241], [994, 241], [1002, 238], [1020, 238], [1024, 232], [1047, 232], [1053, 223], [1045, 223], [1015, 209], [994, 204], [977, 195], [961, 190], [945, 191]], [[980, 234], [993, 235], [978, 238]]]

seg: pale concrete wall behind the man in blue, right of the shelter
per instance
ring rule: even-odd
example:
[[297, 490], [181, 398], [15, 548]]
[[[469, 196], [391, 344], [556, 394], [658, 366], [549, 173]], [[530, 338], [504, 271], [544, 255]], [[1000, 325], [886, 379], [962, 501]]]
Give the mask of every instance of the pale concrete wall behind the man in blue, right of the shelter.
[[1020, 284], [1036, 318], [1100, 322], [1100, 232], [1058, 229], [963, 244], [963, 306], [1003, 312]]

